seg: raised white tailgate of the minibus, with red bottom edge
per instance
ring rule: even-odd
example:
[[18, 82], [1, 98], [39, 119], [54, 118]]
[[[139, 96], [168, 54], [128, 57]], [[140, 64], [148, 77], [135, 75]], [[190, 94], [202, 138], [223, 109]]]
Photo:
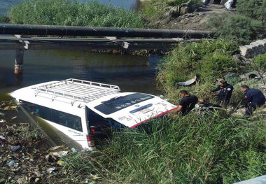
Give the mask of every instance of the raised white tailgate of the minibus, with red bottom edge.
[[98, 118], [102, 117], [102, 126], [134, 128], [177, 107], [151, 94], [120, 93], [93, 101], [87, 108]]

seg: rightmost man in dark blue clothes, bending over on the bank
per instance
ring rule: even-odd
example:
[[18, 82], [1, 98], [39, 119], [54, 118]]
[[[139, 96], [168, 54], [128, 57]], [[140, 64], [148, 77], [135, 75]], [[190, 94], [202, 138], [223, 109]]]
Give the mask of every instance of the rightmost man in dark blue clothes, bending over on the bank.
[[264, 94], [257, 89], [250, 89], [247, 85], [241, 86], [241, 91], [245, 94], [245, 115], [251, 115], [253, 111], [260, 106], [265, 104]]

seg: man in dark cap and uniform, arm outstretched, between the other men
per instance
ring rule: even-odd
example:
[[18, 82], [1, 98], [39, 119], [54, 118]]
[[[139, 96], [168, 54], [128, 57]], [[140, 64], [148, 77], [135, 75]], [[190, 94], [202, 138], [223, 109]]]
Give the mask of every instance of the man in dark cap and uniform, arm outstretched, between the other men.
[[221, 106], [227, 106], [232, 97], [232, 91], [234, 90], [234, 87], [228, 84], [225, 80], [221, 80], [218, 87], [216, 87], [214, 90], [208, 90], [207, 92], [217, 92], [218, 90], [221, 91], [218, 94], [215, 94], [217, 97], [217, 104]]

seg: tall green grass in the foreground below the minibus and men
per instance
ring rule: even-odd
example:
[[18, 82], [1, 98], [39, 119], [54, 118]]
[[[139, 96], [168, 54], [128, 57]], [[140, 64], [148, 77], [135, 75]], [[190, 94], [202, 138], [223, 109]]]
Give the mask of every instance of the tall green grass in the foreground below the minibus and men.
[[80, 181], [147, 184], [235, 183], [266, 172], [262, 119], [254, 124], [214, 113], [148, 123], [152, 134], [116, 133], [99, 153], [64, 157], [64, 170]]

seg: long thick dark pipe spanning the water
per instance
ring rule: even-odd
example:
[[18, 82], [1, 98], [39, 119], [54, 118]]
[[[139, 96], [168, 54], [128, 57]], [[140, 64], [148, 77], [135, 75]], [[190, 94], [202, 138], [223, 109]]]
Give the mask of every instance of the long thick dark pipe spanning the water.
[[30, 24], [0, 24], [0, 34], [55, 36], [120, 36], [150, 38], [207, 38], [211, 31], [177, 29], [124, 29], [114, 27], [76, 27]]

